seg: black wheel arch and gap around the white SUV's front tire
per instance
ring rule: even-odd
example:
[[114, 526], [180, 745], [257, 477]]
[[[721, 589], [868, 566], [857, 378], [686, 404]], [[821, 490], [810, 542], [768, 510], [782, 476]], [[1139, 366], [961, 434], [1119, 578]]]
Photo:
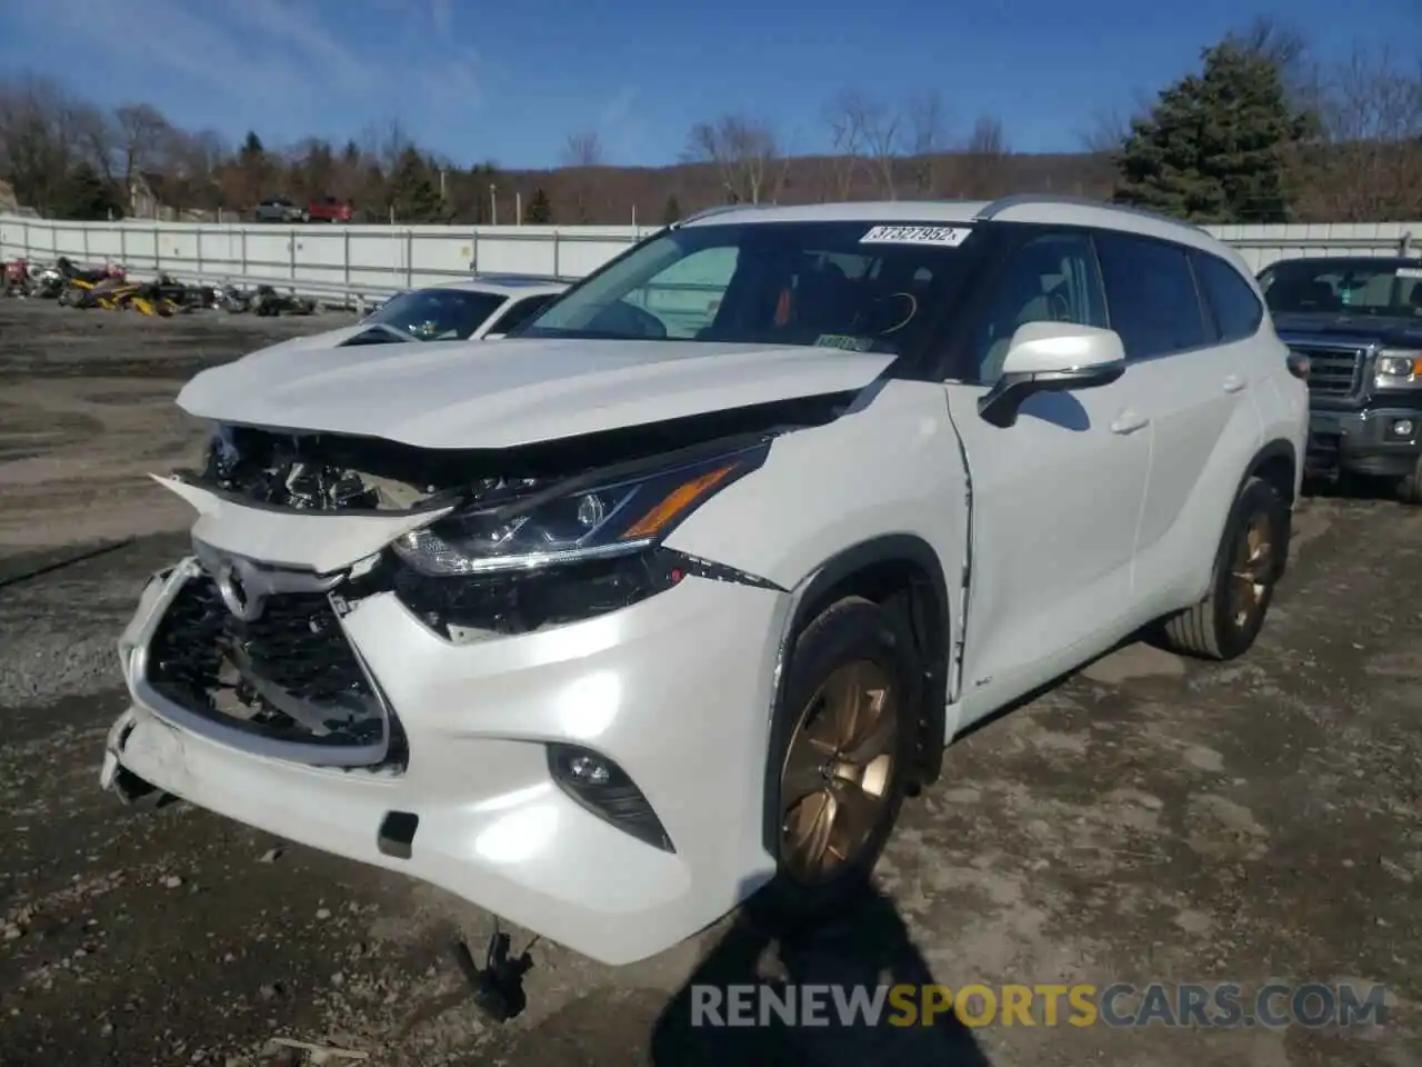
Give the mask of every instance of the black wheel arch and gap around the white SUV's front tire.
[[951, 599], [943, 561], [933, 546], [914, 534], [886, 534], [852, 545], [815, 568], [801, 583], [795, 609], [785, 626], [776, 656], [771, 744], [765, 754], [762, 798], [762, 842], [775, 855], [779, 848], [779, 768], [776, 721], [781, 716], [788, 664], [799, 633], [832, 603], [846, 596], [865, 596], [890, 610], [902, 610], [923, 667], [916, 704], [917, 760], [910, 768], [910, 788], [929, 785], [939, 777], [947, 744], [946, 704], [948, 649], [951, 644]]

